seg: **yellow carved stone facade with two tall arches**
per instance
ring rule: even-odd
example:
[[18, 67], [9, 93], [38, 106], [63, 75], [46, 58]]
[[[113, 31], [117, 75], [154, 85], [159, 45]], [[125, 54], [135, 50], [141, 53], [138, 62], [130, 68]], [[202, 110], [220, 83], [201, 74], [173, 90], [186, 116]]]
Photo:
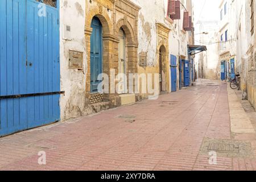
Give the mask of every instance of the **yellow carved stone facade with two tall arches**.
[[[86, 1], [85, 42], [86, 42], [86, 98], [90, 95], [90, 24], [94, 16], [100, 19], [103, 30], [103, 72], [110, 75], [115, 69], [118, 75], [118, 31], [120, 28], [126, 35], [126, 73], [138, 73], [138, 11], [140, 7], [130, 1], [123, 0], [90, 0]], [[111, 84], [111, 82], [110, 82]], [[111, 88], [111, 85], [109, 85]], [[112, 85], [113, 86], [113, 85]], [[110, 92], [111, 93], [111, 92]], [[121, 98], [116, 94], [104, 94], [104, 100], [110, 106], [121, 105]]]

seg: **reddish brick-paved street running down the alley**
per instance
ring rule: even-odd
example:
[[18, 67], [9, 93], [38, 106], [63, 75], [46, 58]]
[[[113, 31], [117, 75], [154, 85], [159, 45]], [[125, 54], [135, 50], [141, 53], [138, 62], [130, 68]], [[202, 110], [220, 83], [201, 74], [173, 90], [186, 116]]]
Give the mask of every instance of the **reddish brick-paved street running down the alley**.
[[[0, 169], [256, 170], [254, 123], [235, 92], [219, 84], [1, 138]], [[200, 152], [205, 139], [249, 142], [252, 153], [220, 155], [210, 165]], [[38, 164], [39, 151], [46, 165]]]

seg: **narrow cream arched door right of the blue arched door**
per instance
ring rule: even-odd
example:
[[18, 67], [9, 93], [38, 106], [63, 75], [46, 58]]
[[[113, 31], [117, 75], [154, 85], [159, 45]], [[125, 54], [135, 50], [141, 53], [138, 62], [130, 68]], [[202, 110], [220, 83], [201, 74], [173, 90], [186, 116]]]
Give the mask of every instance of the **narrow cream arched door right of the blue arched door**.
[[127, 91], [126, 79], [126, 36], [122, 28], [118, 32], [118, 73], [119, 73], [119, 88], [118, 93], [123, 94]]

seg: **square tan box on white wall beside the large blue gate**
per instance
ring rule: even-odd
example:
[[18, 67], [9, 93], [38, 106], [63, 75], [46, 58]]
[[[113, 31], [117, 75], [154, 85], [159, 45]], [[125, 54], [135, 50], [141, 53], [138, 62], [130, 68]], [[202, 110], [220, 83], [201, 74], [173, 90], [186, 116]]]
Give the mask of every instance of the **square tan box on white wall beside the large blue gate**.
[[69, 69], [82, 69], [82, 57], [83, 53], [79, 51], [69, 50]]

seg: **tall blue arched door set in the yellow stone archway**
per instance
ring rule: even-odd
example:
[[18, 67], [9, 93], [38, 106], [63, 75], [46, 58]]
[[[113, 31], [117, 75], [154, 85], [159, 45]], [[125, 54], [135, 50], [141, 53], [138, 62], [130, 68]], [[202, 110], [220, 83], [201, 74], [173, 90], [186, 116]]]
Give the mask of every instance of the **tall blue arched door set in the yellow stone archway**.
[[98, 93], [98, 85], [101, 79], [98, 77], [102, 73], [102, 25], [98, 18], [94, 17], [90, 36], [90, 92]]

